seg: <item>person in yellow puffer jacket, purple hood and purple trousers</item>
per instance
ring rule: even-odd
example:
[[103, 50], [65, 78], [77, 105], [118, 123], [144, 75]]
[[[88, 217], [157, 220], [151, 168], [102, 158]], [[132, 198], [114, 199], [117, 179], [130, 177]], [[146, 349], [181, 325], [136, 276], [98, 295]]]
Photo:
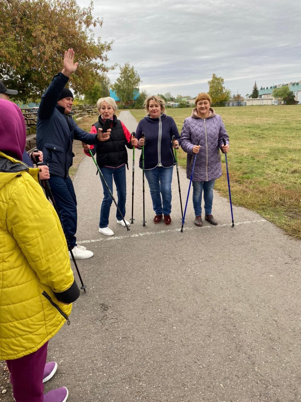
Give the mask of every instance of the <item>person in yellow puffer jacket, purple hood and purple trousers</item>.
[[20, 109], [0, 99], [0, 360], [16, 402], [64, 402], [65, 387], [43, 395], [47, 343], [68, 322], [79, 296], [58, 215], [21, 162]]

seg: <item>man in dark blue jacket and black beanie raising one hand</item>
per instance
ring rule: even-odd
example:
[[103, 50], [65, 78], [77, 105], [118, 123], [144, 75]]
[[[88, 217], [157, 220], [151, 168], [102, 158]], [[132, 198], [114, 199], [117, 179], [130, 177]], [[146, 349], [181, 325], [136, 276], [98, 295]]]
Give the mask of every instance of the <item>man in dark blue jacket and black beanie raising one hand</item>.
[[74, 156], [73, 140], [97, 144], [102, 133], [101, 130], [96, 135], [87, 133], [78, 127], [70, 115], [73, 94], [64, 87], [77, 66], [78, 63], [74, 63], [73, 49], [68, 49], [64, 55], [62, 72], [53, 78], [41, 99], [37, 119], [37, 147], [43, 151], [43, 160], [49, 166], [49, 184], [74, 257], [90, 258], [93, 252], [76, 244], [76, 196], [69, 177], [69, 168]]

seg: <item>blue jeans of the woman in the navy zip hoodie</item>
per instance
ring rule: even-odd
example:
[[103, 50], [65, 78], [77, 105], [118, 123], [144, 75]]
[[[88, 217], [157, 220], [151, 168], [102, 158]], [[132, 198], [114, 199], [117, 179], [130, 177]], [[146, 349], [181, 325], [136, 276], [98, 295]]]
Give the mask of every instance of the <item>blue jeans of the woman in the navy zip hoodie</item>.
[[[153, 209], [156, 215], [170, 215], [171, 213], [171, 180], [173, 179], [173, 166], [144, 170], [148, 181]], [[161, 198], [162, 195], [162, 198]]]

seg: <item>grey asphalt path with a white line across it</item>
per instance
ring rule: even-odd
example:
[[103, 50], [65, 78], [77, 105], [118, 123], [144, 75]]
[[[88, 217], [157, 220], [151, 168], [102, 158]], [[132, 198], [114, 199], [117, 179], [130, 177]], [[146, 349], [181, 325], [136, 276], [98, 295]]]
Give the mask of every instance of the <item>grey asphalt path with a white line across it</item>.
[[[129, 112], [119, 118], [135, 130]], [[175, 169], [171, 225], [153, 224], [146, 181], [143, 227], [135, 154], [130, 231], [116, 223], [112, 204], [115, 235], [98, 232], [102, 187], [91, 158], [74, 178], [78, 242], [94, 256], [78, 260], [87, 293], [74, 303], [71, 325], [49, 342], [58, 372], [45, 392], [66, 386], [70, 402], [301, 400], [300, 242], [241, 207], [233, 206], [231, 228], [229, 201], [217, 193], [212, 213], [219, 225], [193, 224], [191, 194], [181, 233]], [[179, 170], [184, 207], [189, 180]]]

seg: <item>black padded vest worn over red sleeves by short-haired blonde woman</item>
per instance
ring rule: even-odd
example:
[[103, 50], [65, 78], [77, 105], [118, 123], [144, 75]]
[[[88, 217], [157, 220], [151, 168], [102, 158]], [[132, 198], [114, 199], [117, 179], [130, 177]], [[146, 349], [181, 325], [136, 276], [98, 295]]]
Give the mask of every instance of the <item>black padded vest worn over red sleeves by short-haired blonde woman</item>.
[[[104, 121], [99, 115], [98, 121], [93, 125], [98, 130], [104, 125]], [[111, 166], [116, 168], [124, 163], [128, 163], [128, 152], [126, 152], [126, 136], [122, 128], [121, 121], [117, 117], [113, 116], [113, 127], [111, 127], [111, 133], [107, 141], [103, 141], [97, 144], [96, 147], [96, 160], [98, 166]]]

